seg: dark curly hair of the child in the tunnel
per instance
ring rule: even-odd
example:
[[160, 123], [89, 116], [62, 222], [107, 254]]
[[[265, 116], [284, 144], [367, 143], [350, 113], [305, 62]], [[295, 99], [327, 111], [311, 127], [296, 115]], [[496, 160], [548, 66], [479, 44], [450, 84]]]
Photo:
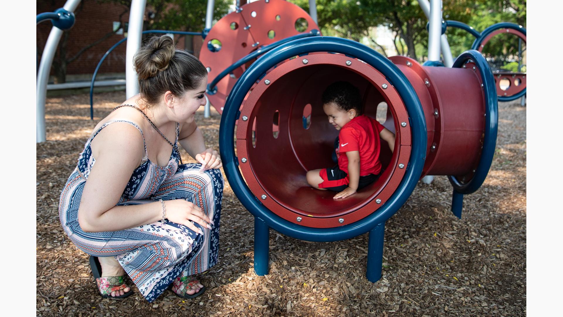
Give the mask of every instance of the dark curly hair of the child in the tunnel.
[[339, 110], [355, 109], [361, 113], [360, 90], [347, 81], [337, 81], [324, 90], [321, 97], [323, 104], [335, 103]]

